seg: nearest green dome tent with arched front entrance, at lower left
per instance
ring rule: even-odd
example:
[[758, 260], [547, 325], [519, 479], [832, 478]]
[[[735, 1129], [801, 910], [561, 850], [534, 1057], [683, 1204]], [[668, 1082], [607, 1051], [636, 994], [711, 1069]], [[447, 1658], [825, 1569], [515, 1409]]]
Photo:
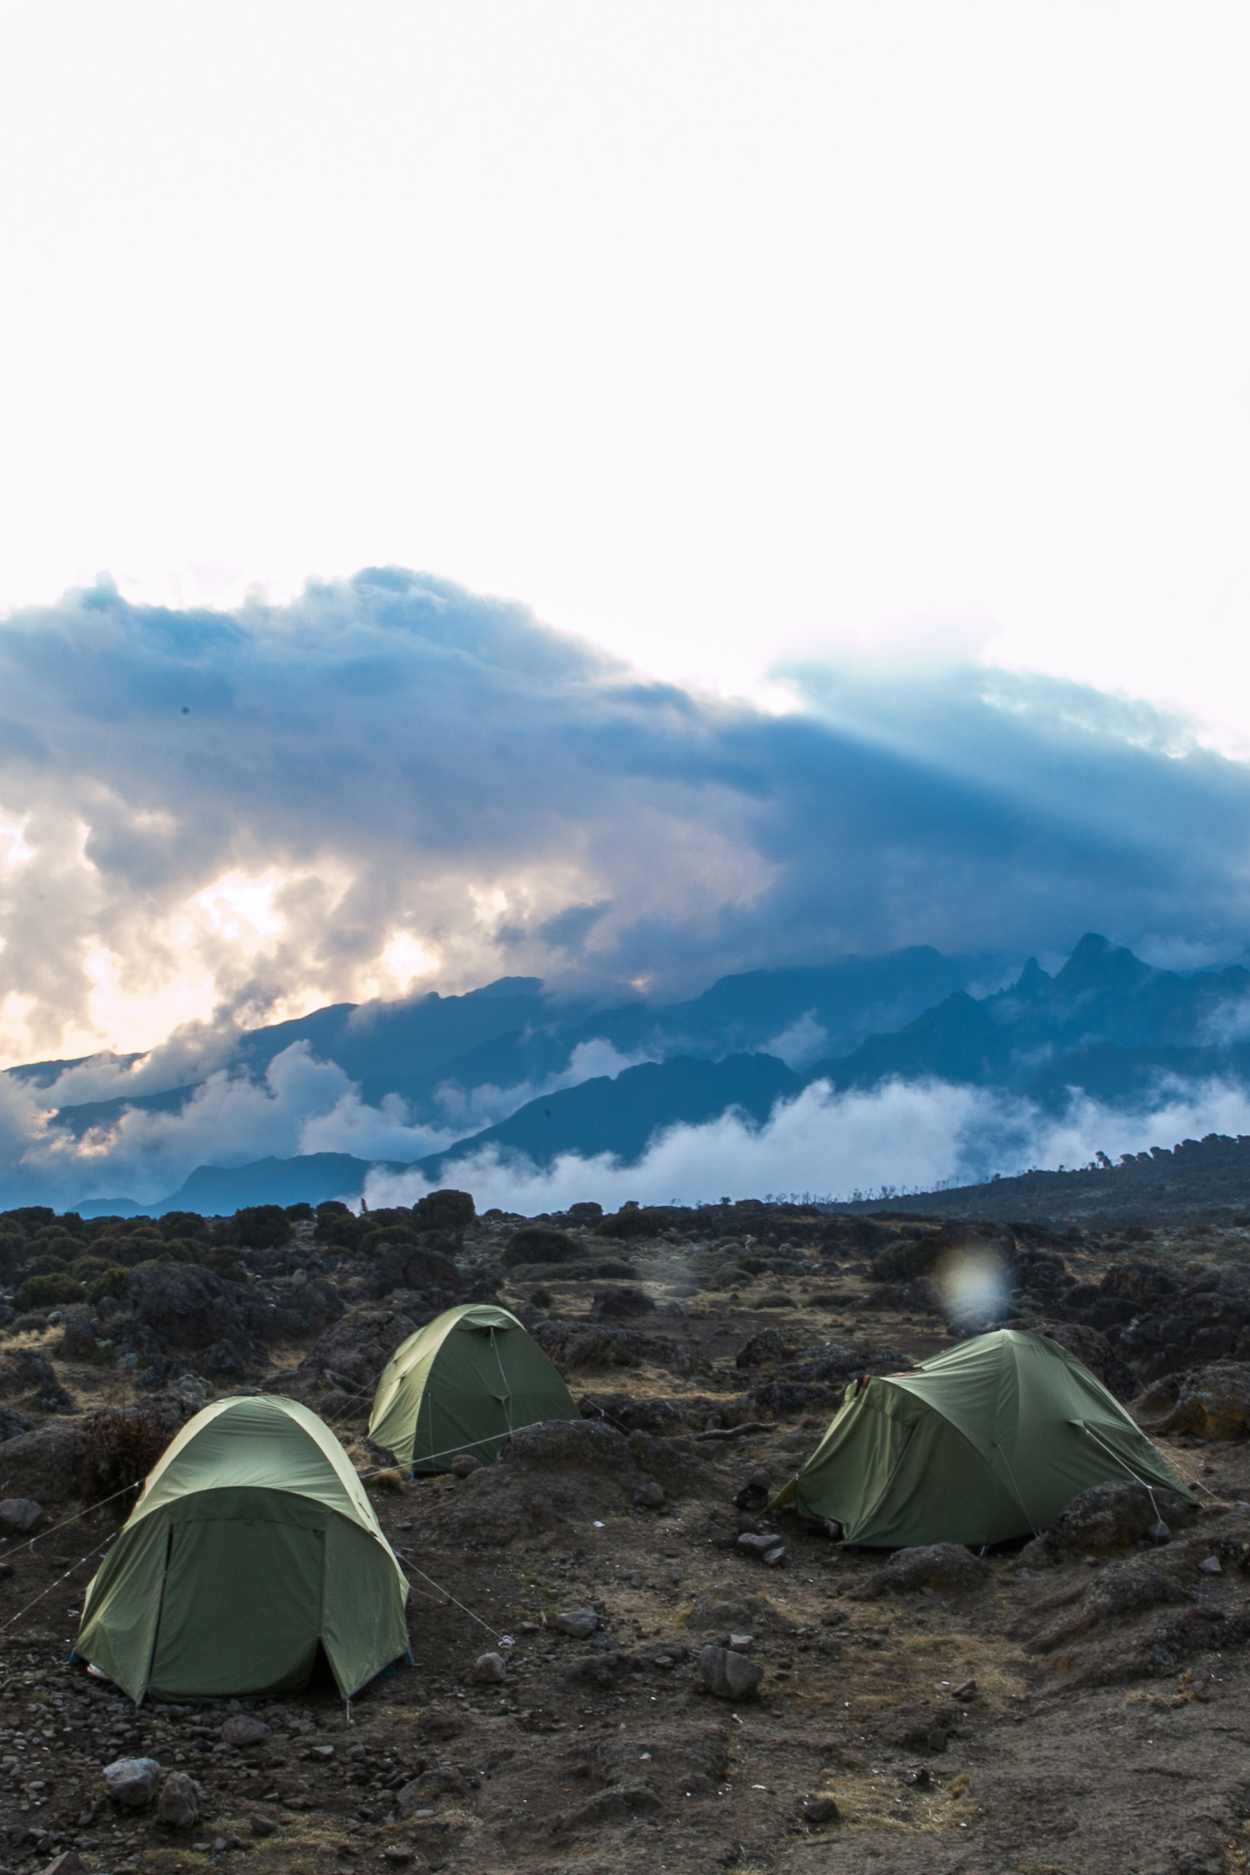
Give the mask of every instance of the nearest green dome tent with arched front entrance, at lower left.
[[296, 1401], [195, 1414], [86, 1590], [75, 1654], [133, 1701], [345, 1699], [409, 1650], [409, 1584], [337, 1438]]

